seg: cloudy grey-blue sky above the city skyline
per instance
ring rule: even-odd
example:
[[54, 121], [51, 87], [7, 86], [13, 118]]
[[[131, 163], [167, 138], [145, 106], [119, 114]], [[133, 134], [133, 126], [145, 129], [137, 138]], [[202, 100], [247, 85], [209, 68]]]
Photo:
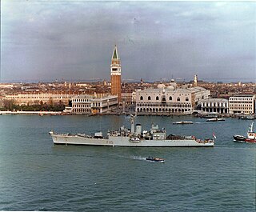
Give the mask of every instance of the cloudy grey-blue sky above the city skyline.
[[1, 1], [0, 82], [256, 82], [255, 2]]

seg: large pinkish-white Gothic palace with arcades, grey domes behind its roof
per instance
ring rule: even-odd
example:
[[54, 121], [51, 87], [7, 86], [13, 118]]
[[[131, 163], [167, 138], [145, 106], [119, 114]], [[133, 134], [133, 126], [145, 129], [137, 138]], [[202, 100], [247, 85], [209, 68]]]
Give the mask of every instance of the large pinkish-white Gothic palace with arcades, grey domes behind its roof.
[[204, 88], [177, 88], [175, 82], [169, 86], [159, 84], [158, 88], [136, 90], [138, 113], [187, 113], [192, 112], [202, 98], [209, 98], [210, 91]]

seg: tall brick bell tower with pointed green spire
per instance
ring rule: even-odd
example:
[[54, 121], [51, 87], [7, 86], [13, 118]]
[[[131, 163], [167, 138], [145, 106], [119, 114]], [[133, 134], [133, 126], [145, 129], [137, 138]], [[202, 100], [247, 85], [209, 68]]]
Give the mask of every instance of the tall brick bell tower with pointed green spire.
[[121, 62], [118, 58], [118, 48], [115, 45], [110, 66], [111, 94], [118, 95], [118, 103], [121, 102]]

